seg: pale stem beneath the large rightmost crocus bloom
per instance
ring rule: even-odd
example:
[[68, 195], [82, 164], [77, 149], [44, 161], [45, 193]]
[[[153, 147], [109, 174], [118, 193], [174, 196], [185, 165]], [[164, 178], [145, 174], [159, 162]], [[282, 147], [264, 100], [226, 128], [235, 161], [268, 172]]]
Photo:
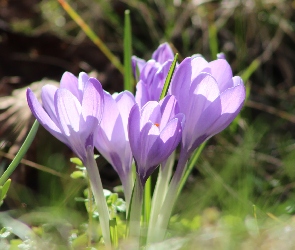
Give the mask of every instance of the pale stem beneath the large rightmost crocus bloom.
[[187, 154], [185, 150], [180, 151], [176, 171], [170, 182], [166, 197], [161, 206], [159, 215], [156, 219], [156, 225], [153, 228], [153, 230], [151, 230], [151, 235], [148, 241], [149, 243], [161, 241], [165, 237], [172, 210], [177, 199], [178, 189], [181, 183], [180, 181], [186, 169], [188, 157], [189, 154]]

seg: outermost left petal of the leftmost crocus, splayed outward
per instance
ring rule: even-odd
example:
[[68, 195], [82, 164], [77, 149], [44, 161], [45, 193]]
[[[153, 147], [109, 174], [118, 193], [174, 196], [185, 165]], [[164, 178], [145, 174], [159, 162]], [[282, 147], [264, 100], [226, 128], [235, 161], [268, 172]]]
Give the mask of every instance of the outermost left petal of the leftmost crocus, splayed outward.
[[56, 137], [61, 142], [67, 144], [67, 140], [61, 133], [61, 130], [59, 129], [57, 124], [55, 124], [48, 116], [32, 90], [29, 88], [27, 89], [27, 101], [33, 115], [38, 120], [38, 122], [54, 137]]

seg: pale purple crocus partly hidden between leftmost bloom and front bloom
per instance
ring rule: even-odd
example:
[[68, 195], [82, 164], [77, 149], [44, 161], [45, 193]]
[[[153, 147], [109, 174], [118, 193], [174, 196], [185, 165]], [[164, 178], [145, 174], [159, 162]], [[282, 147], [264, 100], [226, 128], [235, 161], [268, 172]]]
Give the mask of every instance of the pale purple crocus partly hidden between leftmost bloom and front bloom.
[[117, 171], [129, 203], [132, 192], [132, 153], [127, 124], [131, 108], [135, 104], [129, 91], [110, 95], [104, 91], [105, 113], [95, 139], [95, 147]]

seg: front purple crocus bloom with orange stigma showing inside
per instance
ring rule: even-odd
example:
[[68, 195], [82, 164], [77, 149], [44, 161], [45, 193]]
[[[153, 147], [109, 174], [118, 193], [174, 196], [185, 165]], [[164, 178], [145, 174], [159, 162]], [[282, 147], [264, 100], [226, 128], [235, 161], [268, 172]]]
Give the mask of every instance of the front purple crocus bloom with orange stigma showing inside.
[[129, 140], [142, 184], [179, 144], [183, 122], [184, 115], [172, 95], [159, 103], [147, 102], [142, 109], [137, 104], [131, 109]]

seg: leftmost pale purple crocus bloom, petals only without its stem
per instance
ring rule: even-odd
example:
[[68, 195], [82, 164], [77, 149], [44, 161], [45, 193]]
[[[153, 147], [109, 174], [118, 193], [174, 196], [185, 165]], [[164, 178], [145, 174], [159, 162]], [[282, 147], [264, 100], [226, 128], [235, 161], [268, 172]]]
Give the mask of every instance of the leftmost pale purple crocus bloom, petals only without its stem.
[[93, 148], [93, 136], [103, 113], [103, 90], [100, 82], [80, 73], [79, 79], [63, 74], [60, 88], [45, 85], [39, 103], [27, 89], [29, 107], [38, 122], [57, 139], [68, 145], [82, 160], [86, 149]]

